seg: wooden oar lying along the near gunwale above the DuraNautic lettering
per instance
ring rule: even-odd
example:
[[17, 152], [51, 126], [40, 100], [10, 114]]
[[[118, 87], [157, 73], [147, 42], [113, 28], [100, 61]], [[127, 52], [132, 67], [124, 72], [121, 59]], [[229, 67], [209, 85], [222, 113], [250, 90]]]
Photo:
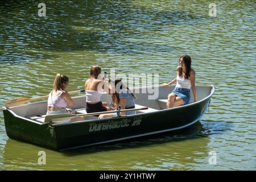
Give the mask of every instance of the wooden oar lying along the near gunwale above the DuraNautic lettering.
[[[146, 109], [148, 109], [148, 107], [142, 107], [142, 108], [137, 108], [137, 109], [122, 109], [119, 111], [122, 112], [122, 111], [134, 111], [134, 110], [146, 110]], [[46, 118], [44, 118], [44, 123], [60, 122], [60, 121], [65, 121], [68, 118], [71, 119], [71, 118], [80, 117], [80, 116], [116, 113], [117, 111], [118, 110], [111, 110], [111, 111], [103, 111], [103, 112], [88, 113], [88, 114], [52, 114], [52, 115], [47, 115]]]

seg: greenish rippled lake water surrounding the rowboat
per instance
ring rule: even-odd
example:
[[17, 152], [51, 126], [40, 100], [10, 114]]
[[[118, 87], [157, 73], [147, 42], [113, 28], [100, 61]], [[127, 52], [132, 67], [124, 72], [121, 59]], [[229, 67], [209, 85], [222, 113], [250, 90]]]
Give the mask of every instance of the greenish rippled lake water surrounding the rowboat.
[[[91, 65], [118, 73], [176, 76], [192, 57], [196, 84], [214, 84], [209, 112], [181, 131], [57, 152], [9, 139], [0, 113], [1, 170], [255, 170], [256, 3], [214, 1], [38, 1], [0, 5], [0, 105], [47, 95], [56, 73], [82, 89]], [[46, 165], [38, 164], [45, 151]], [[209, 164], [215, 151], [217, 164]]]

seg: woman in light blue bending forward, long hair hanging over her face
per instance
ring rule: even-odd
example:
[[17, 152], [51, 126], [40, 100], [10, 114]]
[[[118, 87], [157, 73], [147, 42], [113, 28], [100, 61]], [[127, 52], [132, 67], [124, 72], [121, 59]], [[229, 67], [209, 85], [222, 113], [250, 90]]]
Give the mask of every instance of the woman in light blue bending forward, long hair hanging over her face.
[[[135, 95], [131, 90], [125, 86], [122, 79], [115, 78], [115, 80], [109, 80], [109, 87], [112, 90], [112, 104], [119, 109], [134, 109], [135, 108]], [[136, 111], [122, 111], [121, 115], [136, 114]], [[121, 116], [119, 115], [119, 116]], [[101, 114], [99, 119], [115, 117], [117, 113]]]

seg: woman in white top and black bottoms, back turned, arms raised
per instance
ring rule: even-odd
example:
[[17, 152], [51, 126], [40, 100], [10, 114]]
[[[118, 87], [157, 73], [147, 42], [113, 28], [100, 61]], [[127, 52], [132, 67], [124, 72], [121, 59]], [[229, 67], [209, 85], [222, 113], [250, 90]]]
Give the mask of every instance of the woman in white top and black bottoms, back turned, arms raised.
[[86, 112], [96, 113], [102, 111], [114, 110], [106, 102], [101, 102], [101, 90], [104, 89], [104, 78], [100, 79], [101, 67], [94, 65], [90, 68], [90, 77], [85, 82], [86, 93]]

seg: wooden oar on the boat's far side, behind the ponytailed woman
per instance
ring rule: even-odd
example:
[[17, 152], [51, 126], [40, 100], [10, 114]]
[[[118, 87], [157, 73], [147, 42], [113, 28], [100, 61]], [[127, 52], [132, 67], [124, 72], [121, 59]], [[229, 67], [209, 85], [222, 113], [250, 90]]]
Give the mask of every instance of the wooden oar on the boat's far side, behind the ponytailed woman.
[[[69, 92], [69, 94], [84, 93], [84, 92], [85, 90], [76, 90], [76, 91]], [[5, 103], [5, 106], [6, 108], [10, 108], [10, 107], [14, 107], [22, 104], [27, 104], [27, 102], [30, 102], [30, 101], [42, 100], [44, 98], [48, 98], [48, 96], [35, 97], [35, 98], [26, 98], [26, 97], [13, 98], [13, 99], [7, 100]]]

